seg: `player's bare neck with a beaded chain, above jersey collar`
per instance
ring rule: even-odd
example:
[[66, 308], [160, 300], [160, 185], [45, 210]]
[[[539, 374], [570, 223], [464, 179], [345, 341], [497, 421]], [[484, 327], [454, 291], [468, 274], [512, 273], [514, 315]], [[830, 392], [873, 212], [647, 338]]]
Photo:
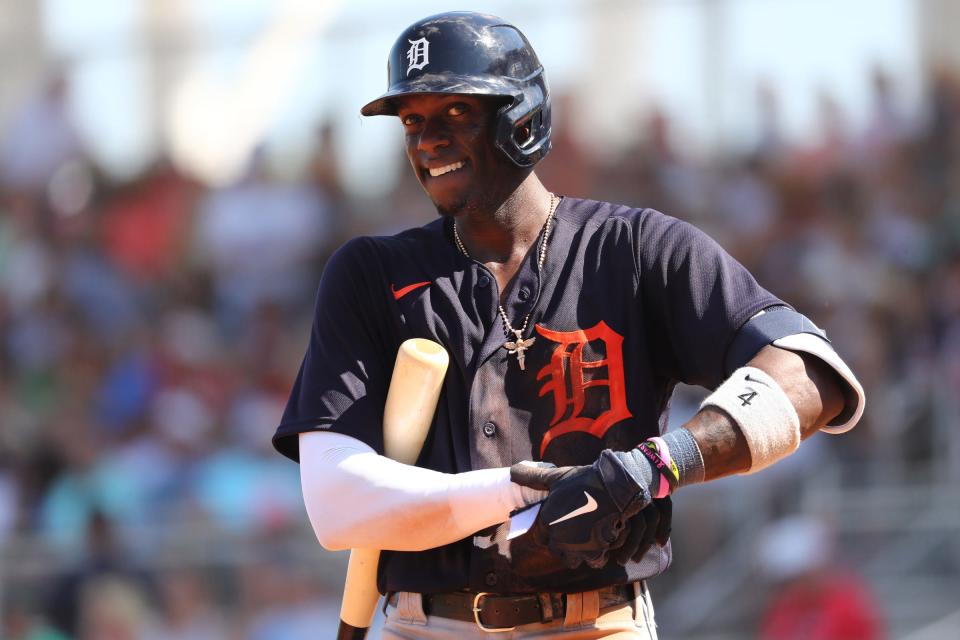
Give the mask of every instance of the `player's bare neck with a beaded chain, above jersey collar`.
[[491, 267], [519, 264], [536, 243], [550, 204], [550, 192], [531, 172], [498, 207], [465, 213], [455, 224], [474, 260]]

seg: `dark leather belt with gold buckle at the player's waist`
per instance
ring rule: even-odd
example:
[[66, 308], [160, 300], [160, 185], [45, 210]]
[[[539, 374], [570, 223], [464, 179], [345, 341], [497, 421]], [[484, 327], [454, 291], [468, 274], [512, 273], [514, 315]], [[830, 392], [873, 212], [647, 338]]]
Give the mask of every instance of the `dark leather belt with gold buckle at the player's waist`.
[[[633, 584], [621, 584], [597, 590], [600, 608], [632, 602]], [[565, 593], [500, 595], [496, 593], [424, 593], [423, 613], [428, 616], [476, 622], [484, 631], [506, 631], [534, 622], [563, 619], [567, 610]], [[398, 596], [391, 593], [387, 602], [396, 606]]]

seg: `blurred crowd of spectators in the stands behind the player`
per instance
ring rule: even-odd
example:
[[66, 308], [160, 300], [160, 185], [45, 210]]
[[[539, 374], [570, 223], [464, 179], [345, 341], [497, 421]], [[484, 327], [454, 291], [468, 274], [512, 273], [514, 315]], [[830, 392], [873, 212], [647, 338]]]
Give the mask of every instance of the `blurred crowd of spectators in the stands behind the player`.
[[[666, 113], [592, 153], [558, 96], [539, 172], [697, 224], [814, 319], [871, 400], [829, 456], [851, 481], [896, 482], [949, 449], [935, 418], [960, 388], [960, 82], [932, 71], [919, 110], [881, 71], [870, 82], [866, 122], [823, 95], [800, 143], [761, 87], [755, 143], [710, 159], [675, 144]], [[0, 131], [0, 636], [309, 637], [336, 580], [218, 541], [309, 538], [270, 436], [319, 274], [345, 238], [434, 213], [406, 172], [383, 200], [349, 194], [331, 127], [296, 180], [258, 154], [223, 187], [164, 160], [117, 183], [68, 90], [50, 83]]]

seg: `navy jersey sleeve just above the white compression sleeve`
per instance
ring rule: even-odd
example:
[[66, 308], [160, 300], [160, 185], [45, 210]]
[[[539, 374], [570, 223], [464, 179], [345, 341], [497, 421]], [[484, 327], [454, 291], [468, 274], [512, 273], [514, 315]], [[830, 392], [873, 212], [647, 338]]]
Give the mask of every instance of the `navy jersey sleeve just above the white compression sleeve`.
[[300, 433], [329, 430], [383, 453], [383, 406], [396, 349], [375, 246], [351, 240], [327, 262], [313, 325], [273, 446], [299, 462]]

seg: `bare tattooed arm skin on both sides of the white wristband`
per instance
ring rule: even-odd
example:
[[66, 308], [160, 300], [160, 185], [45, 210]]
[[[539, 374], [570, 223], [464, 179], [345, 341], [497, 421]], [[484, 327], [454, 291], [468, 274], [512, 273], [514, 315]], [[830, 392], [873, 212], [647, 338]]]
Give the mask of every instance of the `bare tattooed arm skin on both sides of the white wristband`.
[[[772, 377], [797, 412], [800, 437], [808, 438], [843, 409], [840, 383], [820, 359], [774, 346], [762, 349], [750, 362]], [[740, 428], [716, 407], [704, 407], [684, 428], [690, 431], [703, 457], [704, 480], [750, 469], [750, 448]]]

